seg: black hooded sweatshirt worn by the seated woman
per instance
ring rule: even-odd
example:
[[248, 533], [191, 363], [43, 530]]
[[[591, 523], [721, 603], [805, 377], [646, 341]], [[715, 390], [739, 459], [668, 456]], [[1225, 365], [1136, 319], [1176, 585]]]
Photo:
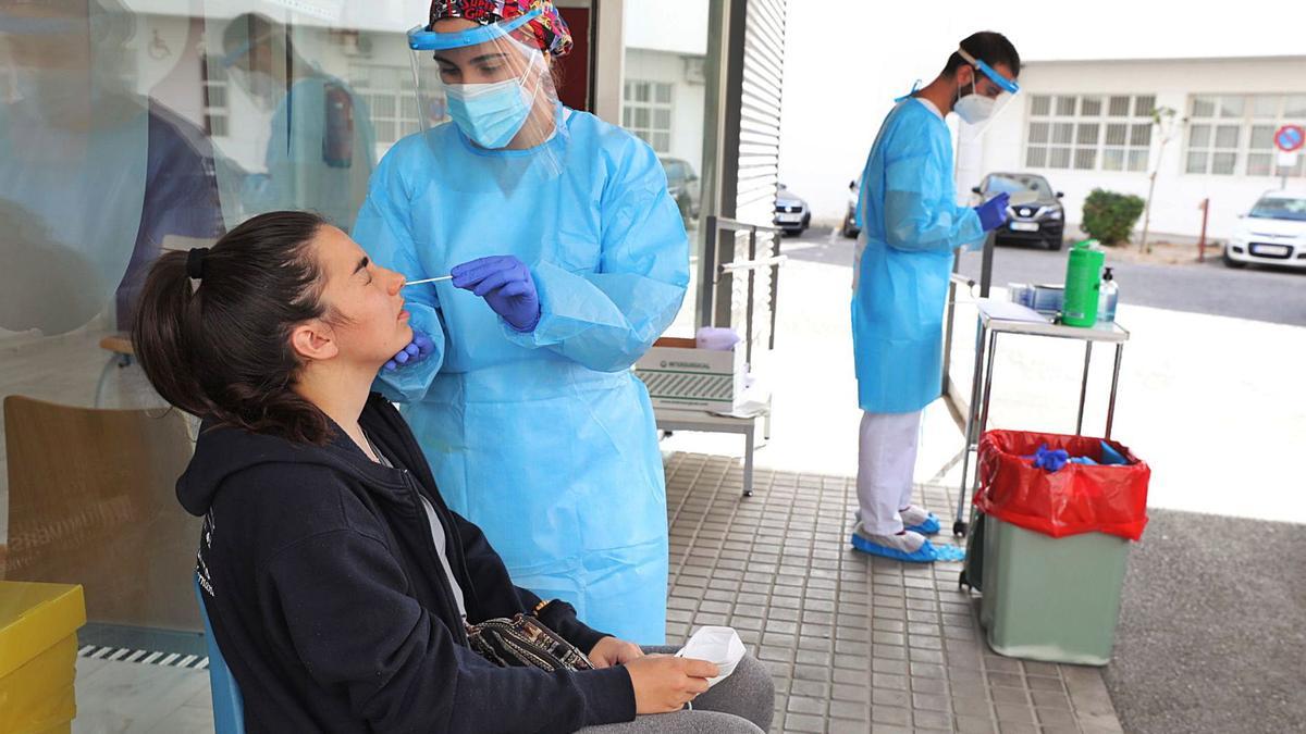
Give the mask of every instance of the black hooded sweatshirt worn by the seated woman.
[[[622, 666], [498, 667], [468, 646], [421, 495], [435, 507], [468, 619], [512, 616], [481, 529], [452, 512], [413, 432], [372, 394], [360, 423], [393, 464], [336, 427], [329, 445], [205, 426], [178, 481], [204, 516], [197, 572], [255, 731], [573, 731], [635, 718]], [[581, 650], [603, 636], [552, 602], [541, 619]]]

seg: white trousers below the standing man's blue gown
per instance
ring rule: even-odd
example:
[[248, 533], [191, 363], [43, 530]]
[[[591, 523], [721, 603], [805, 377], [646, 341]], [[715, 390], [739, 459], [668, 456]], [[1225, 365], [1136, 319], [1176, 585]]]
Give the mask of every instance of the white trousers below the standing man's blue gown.
[[862, 413], [857, 452], [857, 503], [872, 535], [902, 530], [899, 509], [912, 504], [912, 477], [921, 439], [921, 411]]

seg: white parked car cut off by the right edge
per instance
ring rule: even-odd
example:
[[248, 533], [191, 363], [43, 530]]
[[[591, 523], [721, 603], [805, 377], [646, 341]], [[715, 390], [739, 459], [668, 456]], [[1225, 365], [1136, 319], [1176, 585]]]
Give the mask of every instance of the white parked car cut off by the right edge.
[[1230, 268], [1247, 263], [1306, 268], [1306, 193], [1266, 192], [1239, 217], [1224, 261]]

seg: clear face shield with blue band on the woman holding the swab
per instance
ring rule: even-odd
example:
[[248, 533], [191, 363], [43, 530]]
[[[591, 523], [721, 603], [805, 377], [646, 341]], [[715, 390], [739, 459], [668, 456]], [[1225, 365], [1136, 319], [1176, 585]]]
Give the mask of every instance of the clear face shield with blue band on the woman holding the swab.
[[469, 26], [441, 20], [434, 30], [409, 31], [418, 112], [427, 140], [443, 154], [444, 136], [430, 135], [452, 121], [481, 152], [524, 158], [517, 166], [560, 170], [565, 129], [549, 59], [526, 24], [533, 10], [509, 21]]

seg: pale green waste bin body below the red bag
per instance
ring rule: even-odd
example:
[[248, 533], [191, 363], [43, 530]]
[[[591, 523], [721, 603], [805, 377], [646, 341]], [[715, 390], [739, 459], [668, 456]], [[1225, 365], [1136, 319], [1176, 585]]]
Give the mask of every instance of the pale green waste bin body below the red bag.
[[1118, 535], [1051, 538], [985, 516], [980, 623], [989, 646], [1047, 662], [1110, 662], [1128, 551]]

